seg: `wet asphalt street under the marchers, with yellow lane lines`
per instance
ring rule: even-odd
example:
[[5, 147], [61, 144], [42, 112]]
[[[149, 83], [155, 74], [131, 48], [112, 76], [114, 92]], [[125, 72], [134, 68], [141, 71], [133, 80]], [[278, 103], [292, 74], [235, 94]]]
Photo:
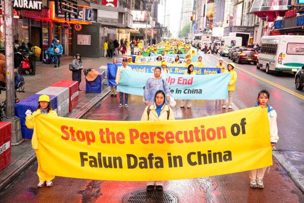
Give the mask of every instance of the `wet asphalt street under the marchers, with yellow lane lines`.
[[[206, 67], [214, 67], [219, 55], [203, 54]], [[230, 59], [224, 58], [226, 62]], [[222, 109], [219, 100], [195, 100], [191, 109], [173, 108], [175, 119], [188, 119], [221, 114], [255, 105], [261, 89], [270, 92], [270, 105], [277, 111], [280, 140], [276, 150], [304, 175], [302, 107], [304, 91], [297, 91], [291, 74], [267, 75], [255, 65], [236, 64], [238, 81], [233, 110]], [[249, 75], [249, 72], [251, 75]], [[253, 74], [253, 75], [252, 75]], [[283, 87], [283, 88], [282, 88]], [[286, 89], [285, 89], [286, 88]], [[295, 93], [293, 93], [295, 92]], [[141, 96], [129, 98], [129, 108], [118, 108], [119, 97], [109, 95], [84, 119], [140, 120], [145, 108]], [[174, 194], [178, 202], [304, 202], [304, 195], [288, 172], [273, 157], [274, 164], [265, 173], [264, 189], [249, 187], [249, 174], [242, 172], [215, 177], [166, 181], [164, 191]], [[96, 181], [56, 177], [50, 188], [37, 189], [37, 164], [31, 165], [0, 194], [0, 202], [122, 202], [127, 194], [145, 189], [145, 182]], [[176, 177], [178, 179], [178, 177]], [[154, 202], [149, 201], [146, 202]]]

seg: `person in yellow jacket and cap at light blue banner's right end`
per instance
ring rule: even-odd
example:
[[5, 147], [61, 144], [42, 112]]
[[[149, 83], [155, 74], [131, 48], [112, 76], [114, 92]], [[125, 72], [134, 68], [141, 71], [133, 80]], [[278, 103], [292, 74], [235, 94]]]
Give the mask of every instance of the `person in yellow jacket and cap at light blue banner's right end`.
[[[233, 102], [233, 93], [235, 91], [236, 88], [236, 82], [238, 79], [238, 75], [237, 72], [235, 72], [235, 64], [234, 63], [228, 63], [227, 65], [227, 71], [225, 71], [225, 73], [230, 73], [231, 75], [231, 80], [228, 84], [228, 108], [232, 109], [232, 102]], [[226, 100], [223, 100], [223, 109], [226, 108]]]

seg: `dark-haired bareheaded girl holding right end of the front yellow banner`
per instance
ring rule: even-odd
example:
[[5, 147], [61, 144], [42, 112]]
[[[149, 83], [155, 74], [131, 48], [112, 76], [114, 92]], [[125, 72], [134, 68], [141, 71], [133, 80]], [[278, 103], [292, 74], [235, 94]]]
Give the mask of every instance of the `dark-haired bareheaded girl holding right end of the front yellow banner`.
[[[254, 107], [261, 107], [267, 109], [269, 127], [270, 127], [270, 142], [271, 146], [276, 146], [279, 136], [278, 136], [278, 126], [277, 126], [277, 112], [274, 108], [268, 105], [270, 99], [270, 94], [267, 90], [261, 90], [257, 95], [257, 104]], [[257, 168], [249, 171], [250, 187], [253, 188], [264, 188], [263, 178], [267, 167]]]

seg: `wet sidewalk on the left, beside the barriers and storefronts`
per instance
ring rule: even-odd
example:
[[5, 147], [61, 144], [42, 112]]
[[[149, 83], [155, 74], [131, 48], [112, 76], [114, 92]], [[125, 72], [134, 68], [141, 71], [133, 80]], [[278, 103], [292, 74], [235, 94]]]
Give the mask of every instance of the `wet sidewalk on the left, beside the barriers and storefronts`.
[[[120, 58], [121, 55], [114, 57]], [[72, 62], [73, 57], [62, 57], [60, 67], [54, 67], [54, 64], [43, 64], [40, 61], [36, 62], [36, 74], [34, 76], [23, 75], [25, 80], [25, 92], [18, 93], [20, 100], [45, 89], [46, 87], [60, 81], [72, 80], [72, 73], [69, 71], [68, 66]], [[98, 69], [101, 65], [106, 65], [112, 59], [100, 58], [82, 58], [84, 68]], [[107, 93], [109, 87], [103, 85], [101, 93], [86, 93], [85, 76], [82, 73], [82, 82], [80, 83], [79, 103], [69, 114], [65, 117], [69, 118], [82, 118], [91, 108], [102, 100]], [[0, 101], [5, 100], [6, 94], [0, 94]], [[35, 160], [35, 152], [31, 148], [31, 140], [25, 139], [24, 142], [17, 146], [12, 146], [11, 164], [0, 173], [0, 191], [3, 190], [10, 182], [17, 178], [23, 171], [25, 171]]]

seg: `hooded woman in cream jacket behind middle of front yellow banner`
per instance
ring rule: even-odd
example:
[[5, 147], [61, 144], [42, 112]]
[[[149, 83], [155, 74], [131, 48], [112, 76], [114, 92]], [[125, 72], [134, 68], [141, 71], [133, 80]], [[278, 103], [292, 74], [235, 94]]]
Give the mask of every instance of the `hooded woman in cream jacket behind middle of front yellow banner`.
[[[167, 105], [166, 93], [163, 90], [155, 92], [154, 104], [147, 106], [141, 116], [141, 121], [175, 120], [171, 107]], [[147, 191], [162, 191], [164, 181], [147, 181]]]

